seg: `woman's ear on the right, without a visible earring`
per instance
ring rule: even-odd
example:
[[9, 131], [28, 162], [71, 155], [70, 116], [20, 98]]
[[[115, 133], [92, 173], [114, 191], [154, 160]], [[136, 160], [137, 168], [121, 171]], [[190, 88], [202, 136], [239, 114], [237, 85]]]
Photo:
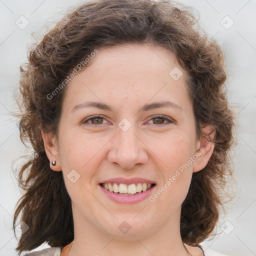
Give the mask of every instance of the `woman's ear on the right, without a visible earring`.
[[[211, 142], [214, 139], [214, 136], [215, 129], [212, 124], [207, 124], [202, 128], [202, 138], [197, 141], [196, 145], [196, 155], [198, 157], [193, 163], [193, 172], [203, 169], [208, 163], [214, 149], [214, 143]], [[209, 141], [209, 138], [211, 141]]]

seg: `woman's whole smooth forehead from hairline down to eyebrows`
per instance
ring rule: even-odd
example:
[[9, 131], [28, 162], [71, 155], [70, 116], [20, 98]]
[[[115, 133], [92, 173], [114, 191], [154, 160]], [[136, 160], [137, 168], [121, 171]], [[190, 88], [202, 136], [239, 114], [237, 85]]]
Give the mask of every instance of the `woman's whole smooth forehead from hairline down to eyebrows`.
[[[175, 56], [161, 46], [105, 47], [99, 49], [91, 61], [68, 83], [64, 101], [68, 101], [70, 107], [86, 99], [103, 101], [116, 108], [125, 102], [130, 106], [142, 105], [150, 98], [153, 101], [172, 99], [176, 104], [188, 99], [186, 72]], [[180, 76], [178, 79], [174, 79], [172, 70]]]

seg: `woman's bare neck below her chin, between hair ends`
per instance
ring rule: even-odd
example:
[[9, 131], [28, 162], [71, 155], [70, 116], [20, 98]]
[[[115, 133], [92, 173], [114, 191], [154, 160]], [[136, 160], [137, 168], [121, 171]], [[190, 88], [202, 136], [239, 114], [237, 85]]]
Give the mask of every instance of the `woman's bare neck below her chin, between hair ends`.
[[[153, 232], [145, 230], [142, 233], [132, 233], [130, 229], [125, 235], [120, 235], [120, 232], [117, 234], [102, 232], [100, 228], [92, 225], [90, 220], [84, 219], [79, 212], [73, 212], [73, 216], [74, 240], [68, 256], [80, 256], [84, 255], [84, 252], [86, 255], [95, 256], [192, 255], [188, 250], [190, 246], [185, 246], [181, 240], [178, 214], [174, 214], [173, 218], [162, 226], [153, 227]], [[68, 249], [70, 247], [71, 244]]]

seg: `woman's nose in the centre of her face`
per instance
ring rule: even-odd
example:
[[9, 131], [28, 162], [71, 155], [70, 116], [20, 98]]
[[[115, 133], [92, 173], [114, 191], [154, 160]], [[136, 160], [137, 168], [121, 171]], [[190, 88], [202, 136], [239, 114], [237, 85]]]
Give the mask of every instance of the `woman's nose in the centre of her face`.
[[118, 128], [111, 144], [108, 161], [118, 164], [124, 169], [131, 169], [136, 164], [146, 163], [148, 159], [147, 147], [135, 133], [133, 125], [126, 131]]

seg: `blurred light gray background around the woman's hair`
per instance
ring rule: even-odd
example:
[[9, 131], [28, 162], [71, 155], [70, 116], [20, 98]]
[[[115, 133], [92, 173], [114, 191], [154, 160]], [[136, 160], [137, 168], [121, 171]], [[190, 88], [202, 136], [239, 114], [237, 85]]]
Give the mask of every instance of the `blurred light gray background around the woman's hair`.
[[[11, 230], [14, 206], [20, 197], [11, 165], [25, 154], [19, 139], [16, 120], [10, 112], [16, 108], [13, 92], [17, 91], [19, 66], [25, 62], [27, 45], [33, 37], [47, 30], [49, 18], [54, 24], [70, 6], [81, 0], [0, 0], [0, 256], [17, 255], [17, 241]], [[234, 177], [238, 197], [229, 205], [229, 213], [219, 220], [223, 230], [204, 242], [211, 249], [226, 255], [256, 255], [256, 193], [255, 193], [255, 0], [182, 0], [200, 13], [202, 26], [214, 36], [224, 50], [228, 69], [228, 98], [237, 109], [238, 144], [233, 154]], [[29, 24], [20, 29], [15, 21], [23, 15]], [[234, 24], [229, 28], [232, 20]], [[223, 19], [224, 18], [224, 19]], [[222, 20], [222, 21], [221, 21]], [[24, 22], [24, 21], [23, 21]], [[24, 24], [24, 23], [22, 23]], [[16, 163], [17, 164], [17, 163]], [[232, 230], [233, 228], [233, 230]], [[42, 247], [48, 247], [43, 244]]]

